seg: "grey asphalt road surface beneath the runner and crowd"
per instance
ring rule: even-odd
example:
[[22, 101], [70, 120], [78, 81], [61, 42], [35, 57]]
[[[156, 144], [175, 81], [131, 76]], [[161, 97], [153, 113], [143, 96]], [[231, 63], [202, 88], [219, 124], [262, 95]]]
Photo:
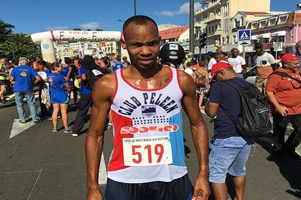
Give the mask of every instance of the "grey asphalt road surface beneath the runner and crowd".
[[[76, 111], [70, 111], [68, 115], [72, 124]], [[213, 124], [208, 116], [203, 116], [212, 136]], [[17, 118], [14, 103], [0, 105], [0, 199], [84, 199], [85, 131], [78, 137], [64, 135], [62, 130], [54, 134], [51, 132], [52, 122], [46, 119], [10, 139], [13, 122]], [[186, 163], [193, 182], [198, 172], [197, 155], [185, 114], [183, 119]], [[86, 123], [84, 129], [87, 126]], [[62, 127], [61, 121], [59, 127]], [[266, 141], [266, 138], [257, 140], [251, 151], [244, 199], [301, 199], [301, 162], [275, 160], [270, 156], [272, 148]], [[111, 149], [112, 131], [107, 130], [105, 164]], [[231, 180], [227, 183], [229, 199], [232, 199], [233, 185]], [[105, 185], [101, 186], [103, 189]]]

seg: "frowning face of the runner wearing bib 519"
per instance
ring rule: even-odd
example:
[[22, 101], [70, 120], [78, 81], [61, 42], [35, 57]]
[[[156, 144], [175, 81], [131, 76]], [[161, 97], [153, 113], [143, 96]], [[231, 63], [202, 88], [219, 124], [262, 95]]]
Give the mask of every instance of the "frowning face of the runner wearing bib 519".
[[127, 49], [129, 58], [135, 67], [153, 68], [157, 65], [160, 50], [158, 28], [152, 22], [145, 25], [130, 23], [125, 29], [127, 38], [122, 47]]

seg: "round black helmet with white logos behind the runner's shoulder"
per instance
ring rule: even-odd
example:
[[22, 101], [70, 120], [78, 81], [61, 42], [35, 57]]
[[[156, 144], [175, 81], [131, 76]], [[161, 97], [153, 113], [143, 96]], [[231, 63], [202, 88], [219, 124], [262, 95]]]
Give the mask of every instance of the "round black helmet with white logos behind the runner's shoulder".
[[178, 43], [167, 43], [159, 51], [161, 64], [179, 68], [185, 58], [185, 50]]

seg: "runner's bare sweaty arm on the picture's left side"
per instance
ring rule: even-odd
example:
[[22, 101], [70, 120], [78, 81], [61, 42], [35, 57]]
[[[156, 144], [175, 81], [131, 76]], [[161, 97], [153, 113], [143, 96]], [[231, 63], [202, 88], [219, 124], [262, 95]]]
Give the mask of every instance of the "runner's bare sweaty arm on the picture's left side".
[[114, 89], [114, 75], [107, 74], [97, 80], [92, 91], [93, 105], [85, 147], [88, 187], [87, 199], [102, 199], [102, 194], [98, 188], [98, 170], [106, 119], [110, 111]]

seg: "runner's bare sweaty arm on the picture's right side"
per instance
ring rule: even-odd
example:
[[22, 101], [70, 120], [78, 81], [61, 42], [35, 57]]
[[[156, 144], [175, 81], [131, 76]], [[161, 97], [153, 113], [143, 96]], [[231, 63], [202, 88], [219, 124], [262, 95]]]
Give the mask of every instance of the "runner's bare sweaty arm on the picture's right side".
[[207, 199], [210, 194], [208, 130], [196, 100], [196, 86], [193, 78], [184, 71], [180, 71], [179, 76], [180, 86], [183, 90], [182, 105], [190, 121], [192, 138], [199, 162], [199, 175], [195, 181], [193, 199], [197, 199], [198, 192], [202, 192], [202, 199]]

